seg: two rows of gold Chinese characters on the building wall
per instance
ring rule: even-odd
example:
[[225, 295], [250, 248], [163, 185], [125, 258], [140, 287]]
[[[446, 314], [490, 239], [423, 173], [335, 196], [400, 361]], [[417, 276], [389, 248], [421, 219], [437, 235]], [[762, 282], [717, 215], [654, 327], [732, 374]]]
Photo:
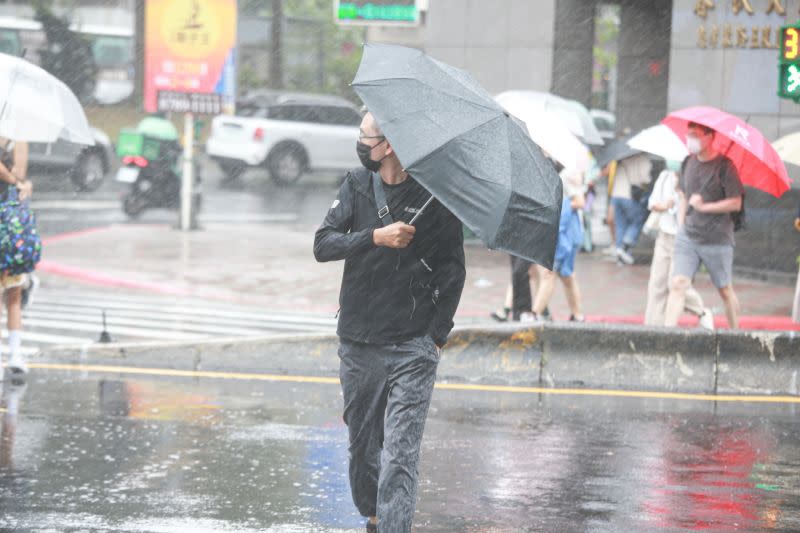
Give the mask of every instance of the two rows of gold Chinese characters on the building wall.
[[[696, 0], [694, 14], [705, 19], [711, 10], [722, 4], [717, 0]], [[763, 7], [767, 15], [786, 16], [784, 0], [725, 0], [734, 15], [754, 15]], [[700, 48], [780, 48], [780, 25], [747, 25], [727, 23], [702, 24], [697, 29], [697, 46]]]

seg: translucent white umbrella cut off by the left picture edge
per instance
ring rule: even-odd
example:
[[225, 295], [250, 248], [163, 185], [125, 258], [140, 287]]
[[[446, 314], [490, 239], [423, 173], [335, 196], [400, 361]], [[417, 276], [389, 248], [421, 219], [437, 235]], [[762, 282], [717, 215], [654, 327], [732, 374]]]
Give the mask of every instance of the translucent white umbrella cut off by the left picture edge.
[[94, 144], [80, 102], [60, 80], [19, 57], [0, 54], [0, 137]]

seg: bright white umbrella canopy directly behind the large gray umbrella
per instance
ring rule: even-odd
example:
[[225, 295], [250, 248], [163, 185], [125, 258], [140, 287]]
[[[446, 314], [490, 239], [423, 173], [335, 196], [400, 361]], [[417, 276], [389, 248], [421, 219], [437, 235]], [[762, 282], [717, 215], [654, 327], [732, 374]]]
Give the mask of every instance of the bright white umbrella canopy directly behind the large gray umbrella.
[[542, 111], [530, 100], [519, 98], [517, 93], [498, 95], [495, 100], [503, 108], [523, 121], [533, 142], [564, 165], [565, 169], [586, 172], [589, 169], [589, 150], [551, 111]]

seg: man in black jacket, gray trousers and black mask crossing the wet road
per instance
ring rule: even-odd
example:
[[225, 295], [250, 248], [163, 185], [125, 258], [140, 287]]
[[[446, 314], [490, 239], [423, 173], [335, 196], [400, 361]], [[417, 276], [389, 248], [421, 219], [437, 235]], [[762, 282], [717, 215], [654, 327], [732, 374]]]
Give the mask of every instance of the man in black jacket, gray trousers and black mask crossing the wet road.
[[364, 168], [339, 190], [314, 257], [345, 261], [337, 334], [353, 501], [367, 531], [408, 532], [436, 368], [464, 287], [464, 237], [435, 200], [409, 225], [430, 194], [370, 113], [357, 150]]

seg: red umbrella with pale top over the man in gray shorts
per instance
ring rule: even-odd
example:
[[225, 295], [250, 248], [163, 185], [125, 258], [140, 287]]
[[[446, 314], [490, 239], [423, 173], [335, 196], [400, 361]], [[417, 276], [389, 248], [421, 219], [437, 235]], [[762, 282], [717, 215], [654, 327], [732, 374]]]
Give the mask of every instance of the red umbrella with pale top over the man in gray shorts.
[[742, 119], [714, 107], [687, 107], [670, 113], [661, 121], [686, 141], [690, 122], [717, 132], [714, 149], [730, 158], [742, 183], [780, 198], [791, 187], [778, 152], [756, 128]]

